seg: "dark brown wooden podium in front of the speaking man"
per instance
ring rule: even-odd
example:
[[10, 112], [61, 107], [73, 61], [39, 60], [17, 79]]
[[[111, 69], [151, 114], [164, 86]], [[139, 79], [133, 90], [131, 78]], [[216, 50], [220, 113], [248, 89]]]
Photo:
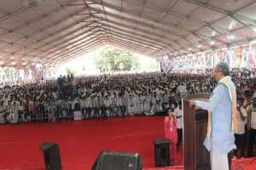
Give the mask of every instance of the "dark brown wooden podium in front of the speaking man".
[[208, 100], [209, 94], [183, 98], [183, 161], [184, 170], [210, 170], [210, 154], [204, 146], [207, 134], [207, 111], [195, 110], [190, 100]]

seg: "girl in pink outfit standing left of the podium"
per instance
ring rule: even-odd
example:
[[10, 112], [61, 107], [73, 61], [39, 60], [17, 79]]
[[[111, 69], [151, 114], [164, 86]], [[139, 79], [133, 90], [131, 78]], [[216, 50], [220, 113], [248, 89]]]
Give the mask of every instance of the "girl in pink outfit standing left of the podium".
[[165, 138], [171, 140], [170, 156], [171, 161], [177, 161], [177, 118], [174, 116], [172, 109], [167, 110], [165, 117]]

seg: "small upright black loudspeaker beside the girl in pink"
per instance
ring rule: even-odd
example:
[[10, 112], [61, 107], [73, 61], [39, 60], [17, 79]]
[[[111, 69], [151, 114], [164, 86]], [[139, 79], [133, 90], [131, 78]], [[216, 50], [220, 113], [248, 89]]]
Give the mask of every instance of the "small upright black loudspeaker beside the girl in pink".
[[171, 165], [170, 139], [154, 140], [154, 164], [155, 167], [168, 167]]

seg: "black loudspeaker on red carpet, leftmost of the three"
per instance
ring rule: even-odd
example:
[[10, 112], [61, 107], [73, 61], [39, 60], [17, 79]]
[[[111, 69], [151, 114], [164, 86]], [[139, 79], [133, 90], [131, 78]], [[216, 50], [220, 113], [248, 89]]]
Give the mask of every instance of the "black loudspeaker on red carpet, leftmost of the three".
[[61, 170], [61, 154], [57, 144], [43, 143], [41, 150], [44, 151], [44, 164], [46, 170]]

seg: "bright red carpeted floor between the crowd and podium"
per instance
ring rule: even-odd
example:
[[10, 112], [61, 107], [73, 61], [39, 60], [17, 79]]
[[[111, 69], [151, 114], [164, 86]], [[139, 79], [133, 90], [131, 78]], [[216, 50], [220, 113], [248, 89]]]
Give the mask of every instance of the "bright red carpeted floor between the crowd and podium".
[[[183, 169], [182, 150], [174, 167], [154, 167], [154, 139], [164, 136], [163, 116], [132, 116], [77, 122], [0, 125], [0, 170], [43, 170], [40, 144], [60, 145], [63, 170], [90, 170], [101, 150], [137, 152], [145, 170]], [[235, 169], [256, 169], [254, 159], [234, 162]]]

